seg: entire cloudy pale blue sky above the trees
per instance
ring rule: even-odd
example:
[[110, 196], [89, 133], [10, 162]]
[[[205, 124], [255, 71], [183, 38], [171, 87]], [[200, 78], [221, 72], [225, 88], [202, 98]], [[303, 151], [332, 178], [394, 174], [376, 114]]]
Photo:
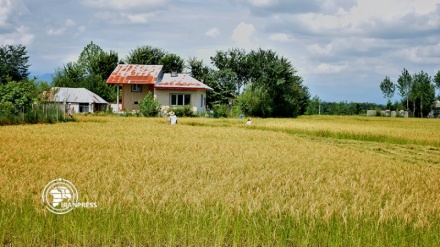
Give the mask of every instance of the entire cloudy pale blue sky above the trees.
[[440, 0], [0, 0], [0, 45], [25, 45], [33, 74], [91, 41], [120, 58], [151, 45], [206, 64], [216, 50], [272, 49], [312, 96], [384, 103], [386, 75], [440, 69]]

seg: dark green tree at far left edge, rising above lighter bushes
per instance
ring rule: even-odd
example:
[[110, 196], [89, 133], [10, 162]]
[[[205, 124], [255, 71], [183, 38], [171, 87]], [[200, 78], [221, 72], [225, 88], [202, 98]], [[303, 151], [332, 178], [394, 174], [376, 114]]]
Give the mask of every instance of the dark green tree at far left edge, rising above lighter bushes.
[[26, 46], [3, 45], [0, 47], [0, 84], [21, 81], [28, 77], [29, 56]]

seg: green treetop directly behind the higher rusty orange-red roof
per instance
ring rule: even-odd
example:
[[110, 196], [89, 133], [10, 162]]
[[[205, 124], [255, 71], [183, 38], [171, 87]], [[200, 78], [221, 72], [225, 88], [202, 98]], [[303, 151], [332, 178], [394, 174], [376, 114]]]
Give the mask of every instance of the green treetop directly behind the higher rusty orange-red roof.
[[125, 58], [128, 64], [160, 64], [160, 59], [162, 59], [167, 53], [160, 49], [152, 46], [140, 46], [132, 50], [130, 54]]

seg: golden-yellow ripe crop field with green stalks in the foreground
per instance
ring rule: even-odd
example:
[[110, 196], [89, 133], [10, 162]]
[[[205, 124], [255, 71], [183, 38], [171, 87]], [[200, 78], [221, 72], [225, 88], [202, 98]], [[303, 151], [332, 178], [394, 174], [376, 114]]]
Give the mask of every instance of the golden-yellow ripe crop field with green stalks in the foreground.
[[0, 245], [440, 246], [437, 119], [76, 118], [0, 127]]

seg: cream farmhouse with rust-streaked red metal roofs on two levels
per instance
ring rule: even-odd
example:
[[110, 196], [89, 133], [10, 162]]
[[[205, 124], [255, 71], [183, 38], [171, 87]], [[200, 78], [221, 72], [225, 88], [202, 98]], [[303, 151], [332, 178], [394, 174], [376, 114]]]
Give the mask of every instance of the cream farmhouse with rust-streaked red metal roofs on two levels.
[[[163, 73], [162, 65], [120, 64], [107, 79], [107, 84], [120, 85], [122, 106], [118, 110], [137, 110], [148, 92], [162, 105], [169, 107], [191, 105], [193, 111], [206, 109], [206, 91], [209, 86], [188, 74]], [[118, 87], [119, 102], [119, 87]]]

